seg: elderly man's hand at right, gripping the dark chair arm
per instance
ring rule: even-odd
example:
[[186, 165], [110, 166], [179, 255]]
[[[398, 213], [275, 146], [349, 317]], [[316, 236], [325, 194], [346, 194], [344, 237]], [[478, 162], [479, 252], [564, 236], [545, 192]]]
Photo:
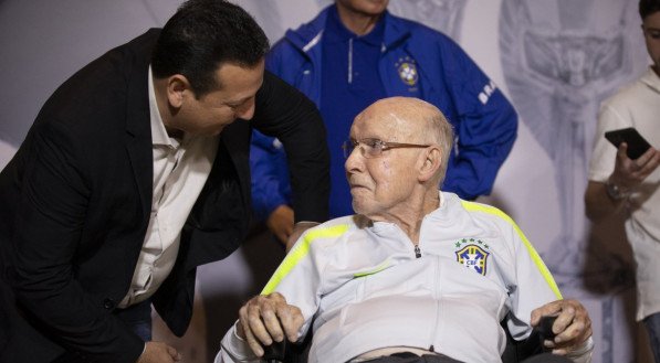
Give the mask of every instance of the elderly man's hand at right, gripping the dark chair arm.
[[554, 341], [546, 340], [544, 345], [554, 354], [565, 355], [583, 348], [591, 337], [591, 319], [585, 307], [577, 300], [557, 300], [532, 311], [532, 327], [536, 327], [541, 317], [557, 316], [553, 324], [556, 334]]

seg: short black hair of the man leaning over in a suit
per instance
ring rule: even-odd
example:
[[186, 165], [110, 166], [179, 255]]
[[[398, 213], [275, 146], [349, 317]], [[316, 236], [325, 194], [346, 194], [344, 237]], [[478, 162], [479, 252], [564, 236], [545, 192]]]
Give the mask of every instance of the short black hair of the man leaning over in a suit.
[[181, 74], [196, 97], [220, 88], [214, 73], [224, 63], [259, 64], [269, 40], [242, 8], [224, 0], [189, 0], [167, 21], [151, 54], [157, 78]]

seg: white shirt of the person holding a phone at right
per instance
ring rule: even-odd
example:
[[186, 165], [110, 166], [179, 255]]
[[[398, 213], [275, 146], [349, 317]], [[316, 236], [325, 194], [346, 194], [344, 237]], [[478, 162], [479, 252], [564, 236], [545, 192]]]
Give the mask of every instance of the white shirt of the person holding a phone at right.
[[[635, 127], [660, 148], [660, 77], [649, 68], [636, 83], [605, 100], [589, 162], [589, 180], [605, 183], [615, 170], [617, 149], [605, 132]], [[660, 168], [630, 197], [626, 235], [637, 265], [637, 320], [660, 312]]]

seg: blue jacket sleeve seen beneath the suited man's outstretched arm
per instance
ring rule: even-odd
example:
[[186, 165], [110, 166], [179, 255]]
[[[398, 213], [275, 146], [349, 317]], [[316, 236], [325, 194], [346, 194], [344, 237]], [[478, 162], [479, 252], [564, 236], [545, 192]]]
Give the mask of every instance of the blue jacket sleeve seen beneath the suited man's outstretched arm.
[[286, 156], [275, 138], [252, 132], [250, 169], [252, 172], [252, 211], [259, 222], [265, 221], [280, 205], [290, 205]]

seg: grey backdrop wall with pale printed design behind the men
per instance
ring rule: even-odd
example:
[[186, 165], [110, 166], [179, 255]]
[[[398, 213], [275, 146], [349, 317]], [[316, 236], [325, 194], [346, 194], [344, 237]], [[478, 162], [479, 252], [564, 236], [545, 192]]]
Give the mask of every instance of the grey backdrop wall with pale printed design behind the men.
[[[311, 20], [327, 0], [234, 0], [272, 42]], [[632, 0], [391, 0], [390, 11], [446, 32], [504, 90], [521, 115], [517, 141], [492, 195], [535, 244], [565, 297], [594, 320], [594, 362], [647, 362], [633, 322], [630, 252], [621, 231], [584, 216], [586, 168], [600, 102], [649, 64]], [[49, 95], [105, 51], [161, 26], [179, 0], [0, 0], [0, 168]], [[199, 274], [195, 323], [175, 340], [206, 362], [282, 256], [263, 232]], [[268, 261], [264, 264], [263, 261]]]

